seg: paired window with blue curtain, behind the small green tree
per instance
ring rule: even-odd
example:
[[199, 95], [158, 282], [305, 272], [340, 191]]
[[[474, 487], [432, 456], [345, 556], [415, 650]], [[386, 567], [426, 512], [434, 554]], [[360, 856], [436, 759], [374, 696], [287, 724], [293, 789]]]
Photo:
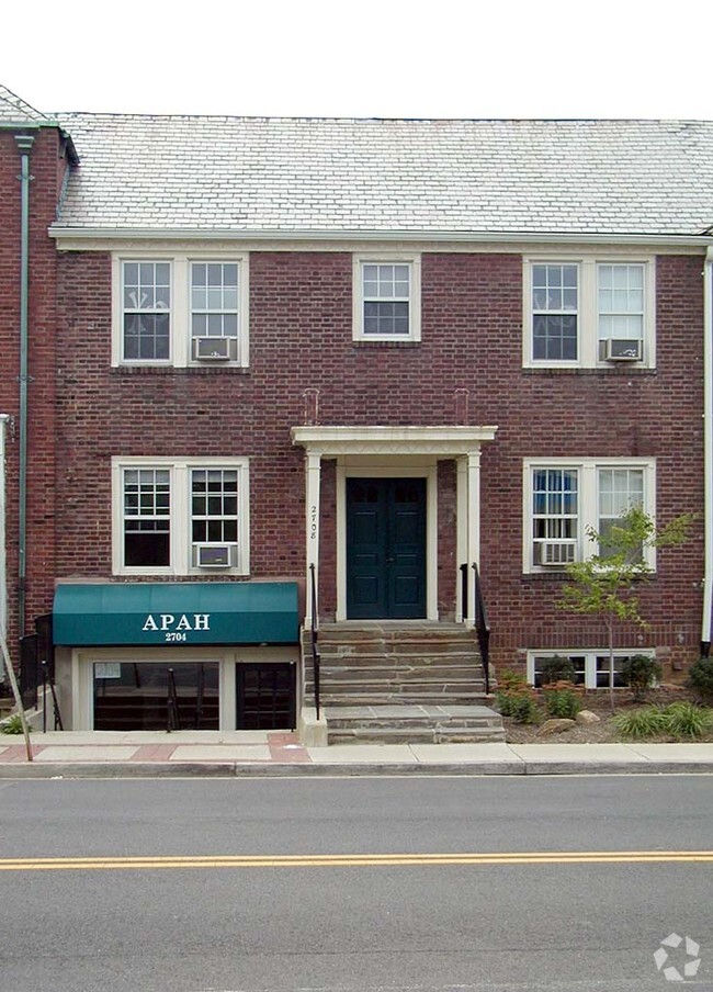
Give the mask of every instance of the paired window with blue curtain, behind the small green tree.
[[[523, 488], [524, 571], [562, 571], [592, 554], [607, 557], [607, 534], [626, 510], [638, 506], [654, 515], [655, 463], [531, 459], [524, 463]], [[654, 567], [652, 549], [642, 549], [640, 557]]]

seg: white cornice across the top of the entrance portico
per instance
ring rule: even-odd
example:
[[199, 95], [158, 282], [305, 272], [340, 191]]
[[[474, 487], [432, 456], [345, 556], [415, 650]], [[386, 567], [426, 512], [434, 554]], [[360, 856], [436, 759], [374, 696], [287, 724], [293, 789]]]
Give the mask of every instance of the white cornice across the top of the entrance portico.
[[493, 441], [497, 427], [293, 427], [292, 443], [309, 454], [432, 454], [459, 458]]

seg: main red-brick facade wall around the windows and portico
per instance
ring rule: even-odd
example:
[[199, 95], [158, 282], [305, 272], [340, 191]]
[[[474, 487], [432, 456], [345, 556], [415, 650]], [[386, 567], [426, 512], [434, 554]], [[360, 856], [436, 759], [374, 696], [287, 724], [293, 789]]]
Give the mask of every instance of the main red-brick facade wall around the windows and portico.
[[[522, 370], [522, 261], [514, 255], [422, 257], [422, 341], [353, 342], [352, 260], [340, 252], [253, 252], [250, 369], [112, 370], [110, 260], [59, 260], [59, 575], [111, 575], [110, 460], [124, 455], [249, 455], [251, 573], [304, 570], [302, 450], [305, 390], [335, 425], [497, 425], [484, 447], [482, 574], [496, 661], [518, 650], [600, 646], [602, 631], [554, 607], [561, 578], [522, 575], [522, 461], [534, 456], [657, 459], [661, 522], [702, 511], [702, 260], [657, 262], [657, 369]], [[452, 613], [454, 470], [439, 469], [439, 605]], [[335, 607], [333, 466], [322, 480], [321, 605]], [[661, 552], [642, 593], [663, 620], [644, 644], [695, 653], [703, 574], [701, 528]], [[623, 643], [631, 646], [634, 631]]]

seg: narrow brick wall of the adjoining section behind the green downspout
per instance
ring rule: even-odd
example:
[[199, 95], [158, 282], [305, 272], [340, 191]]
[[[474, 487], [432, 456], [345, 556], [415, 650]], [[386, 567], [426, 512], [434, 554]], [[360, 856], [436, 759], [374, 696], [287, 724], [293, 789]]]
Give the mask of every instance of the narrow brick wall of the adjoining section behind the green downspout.
[[[56, 131], [35, 132], [30, 153], [26, 632], [52, 605], [55, 574], [55, 218], [65, 162]], [[0, 412], [10, 414], [7, 447], [9, 644], [18, 622], [18, 474], [20, 373], [21, 160], [12, 132], [0, 132]]]

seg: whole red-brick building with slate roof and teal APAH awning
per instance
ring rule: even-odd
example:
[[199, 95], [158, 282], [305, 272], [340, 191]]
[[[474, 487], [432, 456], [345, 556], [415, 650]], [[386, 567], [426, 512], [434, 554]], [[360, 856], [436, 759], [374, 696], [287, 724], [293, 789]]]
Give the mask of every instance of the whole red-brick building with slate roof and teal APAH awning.
[[606, 686], [603, 625], [556, 602], [633, 503], [699, 515], [616, 644], [684, 677], [713, 588], [712, 145], [0, 90], [2, 609], [15, 656], [53, 618], [65, 725], [309, 722], [313, 615], [328, 703], [474, 703], [479, 593], [496, 670], [558, 653]]

